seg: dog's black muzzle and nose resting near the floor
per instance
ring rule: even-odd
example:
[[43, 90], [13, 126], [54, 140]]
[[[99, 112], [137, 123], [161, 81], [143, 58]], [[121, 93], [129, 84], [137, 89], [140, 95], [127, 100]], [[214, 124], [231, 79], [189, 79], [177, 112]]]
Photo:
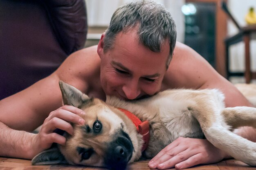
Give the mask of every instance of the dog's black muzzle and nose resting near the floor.
[[126, 132], [121, 130], [117, 138], [108, 144], [105, 166], [113, 170], [125, 170], [132, 157], [133, 145]]

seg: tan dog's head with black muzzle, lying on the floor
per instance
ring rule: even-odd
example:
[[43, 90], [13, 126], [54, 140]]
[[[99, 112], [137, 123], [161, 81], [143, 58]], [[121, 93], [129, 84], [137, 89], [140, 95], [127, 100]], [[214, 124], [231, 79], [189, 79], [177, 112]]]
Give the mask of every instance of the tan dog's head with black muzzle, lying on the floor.
[[141, 156], [137, 130], [122, 112], [97, 98], [90, 98], [60, 81], [63, 103], [85, 111], [84, 125], [73, 124], [66, 145], [56, 145], [36, 155], [34, 165], [70, 163], [125, 169], [129, 161]]

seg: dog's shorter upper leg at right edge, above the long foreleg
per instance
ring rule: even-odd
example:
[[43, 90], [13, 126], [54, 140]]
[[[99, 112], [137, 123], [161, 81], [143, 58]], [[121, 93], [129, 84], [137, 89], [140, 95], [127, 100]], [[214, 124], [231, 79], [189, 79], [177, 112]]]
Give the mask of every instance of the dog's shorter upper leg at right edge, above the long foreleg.
[[256, 108], [254, 107], [227, 107], [222, 111], [221, 115], [232, 129], [241, 126], [256, 128]]

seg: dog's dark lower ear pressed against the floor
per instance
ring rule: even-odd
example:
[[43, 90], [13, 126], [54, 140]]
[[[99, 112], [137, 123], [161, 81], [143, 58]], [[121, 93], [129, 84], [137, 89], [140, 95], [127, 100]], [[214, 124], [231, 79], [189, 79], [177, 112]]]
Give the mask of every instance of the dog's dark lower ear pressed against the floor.
[[65, 157], [57, 147], [52, 147], [37, 154], [31, 162], [32, 165], [67, 164]]

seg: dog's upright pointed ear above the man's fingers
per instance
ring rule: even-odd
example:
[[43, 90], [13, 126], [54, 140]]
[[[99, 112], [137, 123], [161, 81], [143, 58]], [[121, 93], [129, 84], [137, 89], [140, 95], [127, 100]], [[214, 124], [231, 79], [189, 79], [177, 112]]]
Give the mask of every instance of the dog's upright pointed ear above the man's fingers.
[[88, 102], [91, 99], [86, 94], [83, 94], [79, 89], [76, 89], [76, 87], [64, 83], [63, 81], [59, 81], [59, 85], [61, 87], [64, 105], [79, 107], [83, 103]]

